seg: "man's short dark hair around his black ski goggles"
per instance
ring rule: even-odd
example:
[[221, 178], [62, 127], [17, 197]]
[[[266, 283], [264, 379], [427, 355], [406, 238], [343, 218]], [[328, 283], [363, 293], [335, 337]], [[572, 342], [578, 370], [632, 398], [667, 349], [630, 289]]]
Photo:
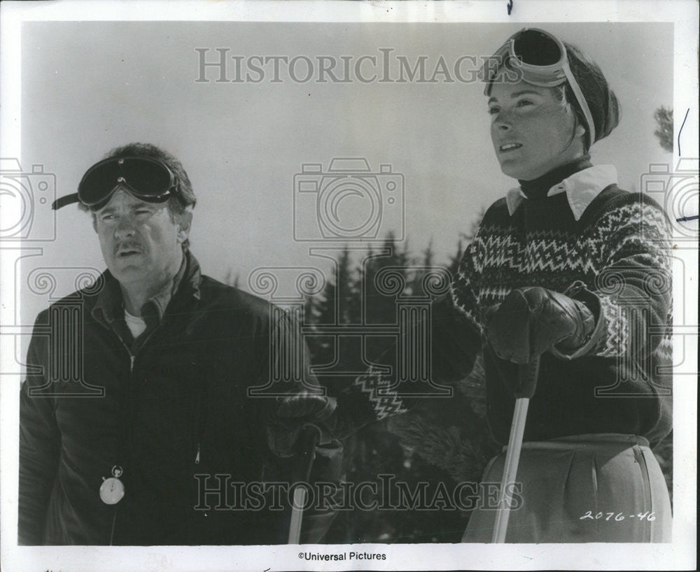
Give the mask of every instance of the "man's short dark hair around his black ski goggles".
[[[173, 222], [185, 223], [186, 212], [188, 209], [195, 208], [197, 197], [192, 190], [192, 183], [190, 183], [190, 178], [187, 176], [181, 162], [174, 155], [151, 143], [129, 143], [128, 145], [114, 148], [104, 156], [104, 159], [118, 159], [120, 157], [150, 157], [151, 159], [158, 159], [168, 166], [175, 175], [178, 190], [167, 200], [168, 213]], [[83, 205], [83, 203], [78, 203], [78, 208], [85, 211], [90, 210], [94, 217], [95, 211]], [[182, 244], [182, 249], [186, 251], [189, 247], [190, 239], [187, 238]]]

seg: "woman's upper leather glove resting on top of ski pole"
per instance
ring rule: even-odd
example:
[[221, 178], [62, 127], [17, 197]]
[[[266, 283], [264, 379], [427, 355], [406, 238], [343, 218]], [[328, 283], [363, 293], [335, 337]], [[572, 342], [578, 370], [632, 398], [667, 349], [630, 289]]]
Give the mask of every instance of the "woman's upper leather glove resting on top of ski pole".
[[596, 319], [583, 302], [534, 286], [512, 290], [497, 308], [486, 310], [484, 324], [498, 357], [528, 364], [552, 348], [556, 355], [581, 348]]

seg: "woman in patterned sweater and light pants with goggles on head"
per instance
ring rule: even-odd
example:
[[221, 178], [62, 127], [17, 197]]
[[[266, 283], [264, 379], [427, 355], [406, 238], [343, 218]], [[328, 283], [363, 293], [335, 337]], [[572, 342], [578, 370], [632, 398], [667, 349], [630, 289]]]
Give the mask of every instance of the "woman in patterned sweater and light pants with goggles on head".
[[[493, 436], [507, 443], [517, 364], [540, 357], [507, 542], [670, 541], [671, 507], [649, 448], [671, 430], [666, 219], [592, 166], [619, 118], [598, 66], [524, 29], [484, 70], [491, 141], [519, 189], [487, 210], [452, 285], [486, 338]], [[512, 82], [514, 76], [519, 80]], [[509, 82], [510, 79], [510, 82]], [[505, 452], [482, 482], [499, 482]], [[489, 542], [493, 506], [464, 541]]]

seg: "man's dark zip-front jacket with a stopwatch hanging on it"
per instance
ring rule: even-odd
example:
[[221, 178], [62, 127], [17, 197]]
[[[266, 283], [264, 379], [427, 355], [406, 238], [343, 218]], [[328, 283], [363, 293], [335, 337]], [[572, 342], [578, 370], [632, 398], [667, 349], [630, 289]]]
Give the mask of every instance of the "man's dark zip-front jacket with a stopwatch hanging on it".
[[[147, 317], [137, 341], [120, 304], [106, 310], [115, 299], [106, 271], [36, 320], [20, 399], [20, 544], [285, 542], [287, 510], [260, 494], [263, 508], [239, 510], [234, 495], [269, 466], [285, 473], [266, 445], [269, 394], [300, 380], [248, 389], [290, 373], [270, 341], [298, 348], [293, 322], [202, 276], [189, 253], [162, 320]], [[125, 496], [107, 505], [99, 488], [114, 466]]]

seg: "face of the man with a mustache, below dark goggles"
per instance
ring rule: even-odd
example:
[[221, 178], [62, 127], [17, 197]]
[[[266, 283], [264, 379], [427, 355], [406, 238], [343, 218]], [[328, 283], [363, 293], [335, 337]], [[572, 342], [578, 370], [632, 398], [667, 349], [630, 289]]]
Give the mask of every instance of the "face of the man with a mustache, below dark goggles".
[[107, 268], [123, 285], [162, 287], [179, 269], [189, 229], [172, 221], [166, 203], [148, 203], [118, 189], [95, 213]]

